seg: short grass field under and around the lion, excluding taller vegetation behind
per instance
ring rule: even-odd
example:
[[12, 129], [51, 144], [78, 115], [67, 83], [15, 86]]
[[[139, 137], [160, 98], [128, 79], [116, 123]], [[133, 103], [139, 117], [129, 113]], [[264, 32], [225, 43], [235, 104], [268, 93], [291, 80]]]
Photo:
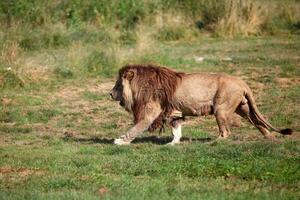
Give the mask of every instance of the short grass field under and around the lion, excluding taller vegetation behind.
[[56, 68], [61, 49], [31, 51], [18, 62], [55, 70], [16, 85], [3, 69], [14, 81], [1, 90], [0, 199], [299, 199], [299, 35], [204, 37], [154, 49], [137, 60], [242, 77], [269, 121], [294, 135], [266, 140], [242, 121], [228, 140], [213, 142], [217, 125], [206, 117], [188, 119], [174, 147], [164, 145], [169, 129], [115, 146], [132, 117], [108, 96], [114, 78]]

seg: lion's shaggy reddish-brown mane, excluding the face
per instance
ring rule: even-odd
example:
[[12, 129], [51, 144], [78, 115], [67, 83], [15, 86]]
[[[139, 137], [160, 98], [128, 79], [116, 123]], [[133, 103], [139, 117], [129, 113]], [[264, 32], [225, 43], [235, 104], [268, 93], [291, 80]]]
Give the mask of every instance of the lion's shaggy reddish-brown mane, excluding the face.
[[178, 83], [181, 81], [184, 73], [178, 73], [165, 67], [155, 65], [125, 65], [119, 71], [119, 77], [123, 77], [127, 72], [135, 73], [130, 81], [132, 90], [132, 101], [124, 102], [132, 104], [132, 112], [134, 115], [134, 123], [139, 122], [145, 115], [146, 103], [150, 101], [158, 101], [161, 105], [162, 112], [154, 120], [149, 131], [162, 128], [164, 119], [175, 108], [173, 96]]

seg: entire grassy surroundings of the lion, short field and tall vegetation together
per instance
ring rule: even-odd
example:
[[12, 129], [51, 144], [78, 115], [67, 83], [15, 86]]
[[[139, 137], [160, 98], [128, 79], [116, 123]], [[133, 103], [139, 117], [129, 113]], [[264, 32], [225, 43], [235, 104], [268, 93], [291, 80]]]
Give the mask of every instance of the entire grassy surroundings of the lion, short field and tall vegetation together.
[[[0, 1], [0, 199], [299, 199], [298, 0]], [[127, 63], [244, 79], [264, 116], [143, 133], [108, 92]], [[240, 122], [239, 122], [240, 121]]]

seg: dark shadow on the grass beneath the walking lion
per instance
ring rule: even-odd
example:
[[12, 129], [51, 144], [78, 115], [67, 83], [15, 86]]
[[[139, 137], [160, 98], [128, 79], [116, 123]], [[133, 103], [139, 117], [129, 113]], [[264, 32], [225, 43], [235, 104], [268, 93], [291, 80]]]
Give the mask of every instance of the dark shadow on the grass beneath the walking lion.
[[[140, 144], [140, 143], [153, 143], [158, 145], [167, 144], [172, 141], [172, 137], [168, 136], [147, 136], [147, 137], [138, 137], [132, 141], [132, 144]], [[98, 138], [98, 137], [91, 137], [91, 138], [77, 138], [74, 136], [65, 136], [63, 138], [65, 141], [74, 141], [74, 142], [82, 142], [82, 143], [98, 143], [98, 144], [114, 144], [114, 139], [109, 138]], [[189, 137], [182, 137], [181, 142], [200, 142], [206, 143], [211, 142], [211, 138], [189, 138]]]

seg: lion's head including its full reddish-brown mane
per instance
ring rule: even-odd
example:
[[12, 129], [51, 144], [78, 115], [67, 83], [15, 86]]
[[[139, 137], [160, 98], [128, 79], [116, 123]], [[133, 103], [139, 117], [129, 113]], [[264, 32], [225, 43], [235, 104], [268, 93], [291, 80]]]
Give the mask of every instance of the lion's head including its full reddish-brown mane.
[[182, 75], [154, 65], [126, 65], [119, 70], [110, 95], [133, 113], [135, 123], [147, 115], [144, 109], [146, 103], [158, 101], [163, 112], [149, 127], [153, 131], [163, 124], [164, 117], [174, 109], [173, 95]]

